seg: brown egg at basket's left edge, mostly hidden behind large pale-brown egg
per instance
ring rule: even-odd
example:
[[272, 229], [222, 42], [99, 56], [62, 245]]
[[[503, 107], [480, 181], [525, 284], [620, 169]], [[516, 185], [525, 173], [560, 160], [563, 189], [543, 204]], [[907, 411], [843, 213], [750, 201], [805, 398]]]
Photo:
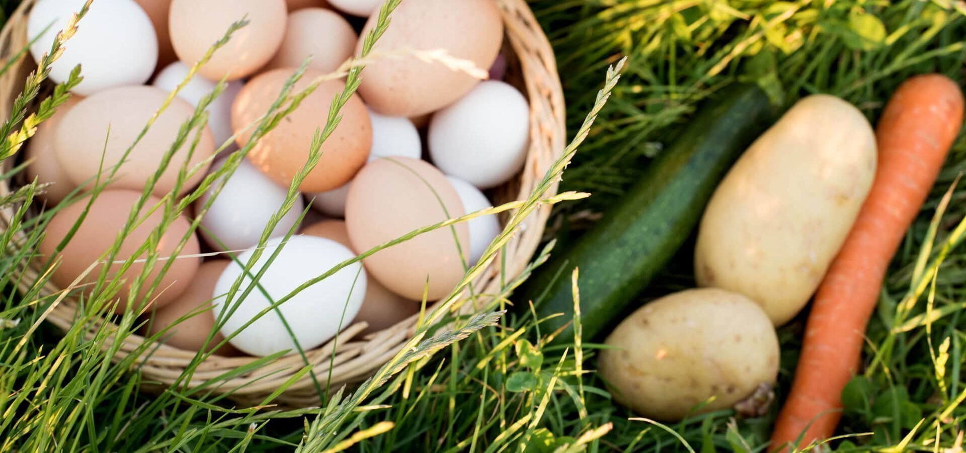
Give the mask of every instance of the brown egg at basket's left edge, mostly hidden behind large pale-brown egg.
[[37, 184], [51, 184], [45, 187], [43, 194], [40, 195], [40, 198], [50, 205], [60, 203], [77, 187], [76, 184], [71, 183], [71, 179], [67, 177], [60, 162], [57, 161], [54, 143], [56, 142], [57, 125], [60, 124], [64, 115], [77, 102], [80, 102], [80, 99], [78, 96], [72, 96], [57, 107], [54, 115], [41, 123], [41, 126], [37, 127], [37, 133], [27, 142], [25, 157], [27, 160], [32, 160], [26, 169], [27, 178], [30, 181], [36, 179]]

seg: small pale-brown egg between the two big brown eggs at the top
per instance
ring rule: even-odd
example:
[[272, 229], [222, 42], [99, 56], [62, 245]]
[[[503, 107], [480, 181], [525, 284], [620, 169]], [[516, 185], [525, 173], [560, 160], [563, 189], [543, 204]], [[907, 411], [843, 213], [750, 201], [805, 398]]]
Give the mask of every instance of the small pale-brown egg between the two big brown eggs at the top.
[[333, 72], [353, 56], [358, 36], [345, 18], [323, 8], [306, 8], [289, 14], [285, 40], [267, 69], [298, 68], [309, 56], [308, 67]]

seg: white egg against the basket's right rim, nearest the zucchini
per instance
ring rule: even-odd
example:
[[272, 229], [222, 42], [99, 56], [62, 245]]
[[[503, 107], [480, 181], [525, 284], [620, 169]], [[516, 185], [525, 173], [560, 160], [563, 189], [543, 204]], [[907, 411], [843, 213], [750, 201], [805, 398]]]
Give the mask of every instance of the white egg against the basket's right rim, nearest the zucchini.
[[506, 183], [523, 169], [530, 110], [516, 88], [490, 80], [440, 110], [429, 125], [433, 163], [479, 188]]

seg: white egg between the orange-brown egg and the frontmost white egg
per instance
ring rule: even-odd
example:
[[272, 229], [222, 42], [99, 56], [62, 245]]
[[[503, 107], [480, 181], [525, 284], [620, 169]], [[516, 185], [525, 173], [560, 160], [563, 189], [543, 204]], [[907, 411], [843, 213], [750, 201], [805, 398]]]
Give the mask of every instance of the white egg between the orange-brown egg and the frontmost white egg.
[[[220, 168], [222, 164], [223, 162], [216, 163], [213, 168]], [[212, 198], [213, 192], [214, 186], [195, 202], [196, 211]], [[285, 195], [285, 188], [274, 184], [247, 160], [242, 160], [224, 189], [212, 202], [208, 213], [201, 219], [201, 226], [204, 227], [202, 236], [216, 250], [225, 249], [218, 241], [223, 242], [228, 250], [243, 250], [254, 246], [262, 237], [271, 216], [285, 202]], [[304, 209], [305, 202], [299, 196], [295, 206], [275, 225], [271, 237], [285, 236], [296, 225], [298, 216]], [[214, 241], [205, 230], [211, 231], [218, 241]]]

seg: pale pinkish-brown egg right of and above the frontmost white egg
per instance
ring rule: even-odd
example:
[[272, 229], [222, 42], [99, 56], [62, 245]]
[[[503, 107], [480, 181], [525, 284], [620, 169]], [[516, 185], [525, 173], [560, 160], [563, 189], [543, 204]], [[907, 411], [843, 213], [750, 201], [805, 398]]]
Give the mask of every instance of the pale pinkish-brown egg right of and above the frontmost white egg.
[[[346, 201], [346, 224], [355, 250], [369, 250], [465, 213], [456, 189], [440, 170], [408, 157], [370, 162], [356, 175]], [[465, 222], [380, 250], [365, 260], [365, 268], [390, 291], [412, 300], [422, 299], [428, 278], [428, 300], [436, 300], [448, 295], [465, 273], [460, 250], [469, 256]]]

